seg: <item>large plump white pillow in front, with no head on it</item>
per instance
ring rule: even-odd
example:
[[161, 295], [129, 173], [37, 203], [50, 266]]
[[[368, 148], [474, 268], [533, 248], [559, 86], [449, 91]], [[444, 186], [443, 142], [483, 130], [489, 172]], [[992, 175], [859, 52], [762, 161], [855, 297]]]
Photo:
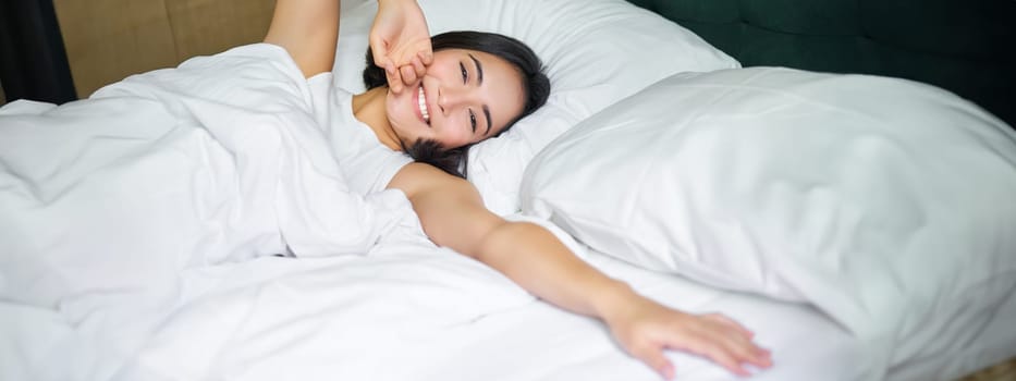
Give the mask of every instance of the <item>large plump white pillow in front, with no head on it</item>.
[[551, 143], [522, 201], [641, 267], [815, 304], [886, 361], [972, 340], [1016, 287], [1016, 133], [904, 79], [678, 74]]

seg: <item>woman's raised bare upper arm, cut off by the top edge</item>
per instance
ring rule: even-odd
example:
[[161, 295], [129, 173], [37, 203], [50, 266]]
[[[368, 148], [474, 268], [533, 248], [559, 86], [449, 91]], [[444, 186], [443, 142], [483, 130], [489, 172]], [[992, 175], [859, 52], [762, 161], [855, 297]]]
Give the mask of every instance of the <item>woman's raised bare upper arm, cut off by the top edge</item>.
[[277, 0], [265, 42], [284, 48], [306, 77], [331, 71], [339, 42], [339, 0]]

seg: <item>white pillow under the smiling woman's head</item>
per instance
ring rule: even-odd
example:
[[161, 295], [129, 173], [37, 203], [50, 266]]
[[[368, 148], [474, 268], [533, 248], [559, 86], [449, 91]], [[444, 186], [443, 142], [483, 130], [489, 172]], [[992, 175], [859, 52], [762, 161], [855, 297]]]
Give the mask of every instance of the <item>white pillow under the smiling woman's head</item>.
[[[518, 210], [526, 164], [578, 121], [677, 72], [738, 67], [698, 36], [622, 0], [420, 0], [430, 32], [495, 32], [537, 52], [551, 78], [542, 109], [470, 151], [469, 180], [488, 208]], [[335, 81], [364, 89], [360, 74], [375, 1], [343, 4]]]

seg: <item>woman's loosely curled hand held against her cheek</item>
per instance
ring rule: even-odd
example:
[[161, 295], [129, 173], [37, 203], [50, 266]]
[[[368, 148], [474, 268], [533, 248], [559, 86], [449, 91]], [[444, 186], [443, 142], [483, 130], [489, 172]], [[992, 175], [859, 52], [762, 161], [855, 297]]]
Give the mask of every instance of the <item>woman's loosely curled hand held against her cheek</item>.
[[433, 59], [430, 30], [416, 0], [379, 0], [370, 27], [374, 62], [384, 69], [392, 91], [401, 93], [424, 76]]

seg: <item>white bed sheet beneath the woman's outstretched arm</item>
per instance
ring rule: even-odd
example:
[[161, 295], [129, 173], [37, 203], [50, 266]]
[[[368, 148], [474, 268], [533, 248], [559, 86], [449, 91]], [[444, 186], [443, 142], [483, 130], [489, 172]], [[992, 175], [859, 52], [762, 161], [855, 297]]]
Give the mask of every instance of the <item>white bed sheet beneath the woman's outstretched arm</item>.
[[[658, 379], [599, 322], [406, 236], [366, 257], [267, 257], [187, 271], [173, 310], [137, 320], [152, 322], [148, 330], [75, 328], [59, 312], [4, 303], [0, 379]], [[810, 307], [587, 258], [668, 305], [740, 320], [774, 353], [776, 366], [758, 380], [870, 378], [864, 348]], [[680, 377], [735, 379], [707, 360], [671, 356]]]

